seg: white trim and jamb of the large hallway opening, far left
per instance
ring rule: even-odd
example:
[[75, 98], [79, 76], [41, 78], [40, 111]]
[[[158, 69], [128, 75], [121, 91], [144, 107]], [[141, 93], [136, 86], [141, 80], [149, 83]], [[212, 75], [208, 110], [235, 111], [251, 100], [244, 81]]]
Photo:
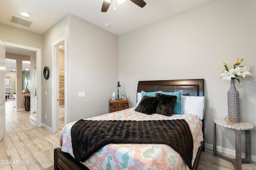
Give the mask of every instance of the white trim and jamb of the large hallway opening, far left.
[[34, 107], [34, 113], [36, 113], [36, 126], [41, 127], [42, 126], [42, 117], [41, 117], [41, 102], [42, 102], [42, 95], [41, 95], [41, 49], [34, 48], [34, 47], [28, 47], [24, 45], [9, 43], [9, 42], [3, 42], [6, 47], [16, 48], [16, 49], [24, 49], [27, 51], [30, 51], [32, 55], [34, 54], [34, 58], [36, 60], [36, 70], [39, 70], [35, 72], [36, 79], [35, 80], [35, 86], [36, 86], [36, 96], [35, 96], [35, 107]]

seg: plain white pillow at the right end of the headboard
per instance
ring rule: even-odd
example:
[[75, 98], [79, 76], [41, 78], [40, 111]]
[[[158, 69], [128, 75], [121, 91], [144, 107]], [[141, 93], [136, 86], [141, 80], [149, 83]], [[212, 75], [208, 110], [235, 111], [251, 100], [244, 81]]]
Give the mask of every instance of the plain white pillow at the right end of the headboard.
[[192, 113], [199, 119], [204, 119], [204, 96], [182, 96], [183, 113]]

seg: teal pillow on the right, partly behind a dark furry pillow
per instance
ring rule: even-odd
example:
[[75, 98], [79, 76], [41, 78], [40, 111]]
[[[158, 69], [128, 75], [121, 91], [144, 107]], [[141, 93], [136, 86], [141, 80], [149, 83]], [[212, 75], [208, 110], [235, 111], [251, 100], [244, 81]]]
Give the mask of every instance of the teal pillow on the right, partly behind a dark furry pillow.
[[180, 90], [179, 92], [158, 92], [160, 94], [166, 94], [171, 96], [177, 96], [176, 103], [174, 105], [174, 114], [182, 115], [182, 93], [183, 91]]

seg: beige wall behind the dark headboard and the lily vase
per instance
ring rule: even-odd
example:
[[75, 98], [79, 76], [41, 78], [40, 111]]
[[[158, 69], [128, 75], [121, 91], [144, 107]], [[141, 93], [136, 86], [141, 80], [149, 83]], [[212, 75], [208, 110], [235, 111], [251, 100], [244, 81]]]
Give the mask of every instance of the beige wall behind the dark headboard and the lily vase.
[[[243, 58], [242, 64], [251, 68], [252, 75], [245, 82], [236, 82], [240, 92], [240, 118], [256, 125], [255, 9], [255, 0], [215, 0], [120, 35], [118, 77], [128, 94], [129, 105], [136, 104], [139, 80], [204, 78], [205, 141], [206, 147], [211, 148], [212, 121], [228, 115], [230, 82], [220, 80], [218, 68], [223, 62], [234, 64], [237, 58]], [[234, 150], [234, 131], [217, 130], [217, 145]], [[256, 161], [255, 129], [251, 135], [252, 158]]]

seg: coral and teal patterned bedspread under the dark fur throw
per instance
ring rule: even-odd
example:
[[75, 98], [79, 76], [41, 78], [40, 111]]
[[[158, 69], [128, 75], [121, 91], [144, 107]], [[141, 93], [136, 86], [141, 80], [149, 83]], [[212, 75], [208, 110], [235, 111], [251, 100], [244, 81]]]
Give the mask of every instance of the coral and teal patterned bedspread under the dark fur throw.
[[[105, 115], [92, 117], [86, 120], [162, 120], [162, 119], [185, 119], [190, 126], [193, 136], [193, 160], [196, 158], [197, 150], [203, 141], [202, 121], [193, 114], [175, 115], [171, 117], [134, 111], [130, 109], [108, 113]], [[68, 123], [62, 129], [60, 135], [60, 147], [63, 152], [70, 153], [73, 157], [71, 143], [71, 127], [76, 122]], [[95, 152], [85, 162], [90, 170], [189, 170], [180, 155], [168, 145], [164, 144], [109, 144]]]

